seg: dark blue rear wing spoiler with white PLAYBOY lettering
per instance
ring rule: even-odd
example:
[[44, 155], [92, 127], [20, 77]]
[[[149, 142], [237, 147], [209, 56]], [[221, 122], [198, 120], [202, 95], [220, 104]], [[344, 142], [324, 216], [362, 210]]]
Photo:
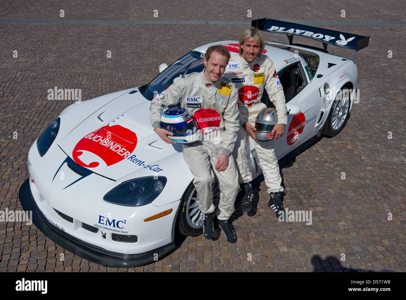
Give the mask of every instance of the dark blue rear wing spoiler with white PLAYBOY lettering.
[[293, 35], [309, 37], [323, 43], [324, 52], [327, 52], [327, 45], [335, 45], [350, 48], [355, 51], [368, 46], [369, 36], [354, 35], [348, 32], [318, 28], [302, 24], [278, 21], [274, 19], [262, 18], [251, 21], [251, 26], [267, 32], [285, 33], [289, 39], [289, 44], [293, 44]]

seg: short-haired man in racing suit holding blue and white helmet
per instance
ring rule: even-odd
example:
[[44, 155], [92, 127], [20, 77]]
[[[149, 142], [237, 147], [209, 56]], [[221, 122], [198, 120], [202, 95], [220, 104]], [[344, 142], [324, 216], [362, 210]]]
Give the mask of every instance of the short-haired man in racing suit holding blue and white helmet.
[[[174, 143], [160, 128], [160, 117], [165, 107], [180, 101], [181, 107], [189, 110], [201, 130], [202, 140], [183, 144], [183, 156], [193, 175], [193, 184], [199, 198], [199, 209], [205, 214], [203, 235], [210, 240], [214, 234], [214, 204], [212, 185], [215, 181], [210, 165], [217, 175], [220, 186], [218, 224], [227, 241], [235, 243], [237, 235], [230, 216], [234, 212], [238, 193], [238, 175], [233, 156], [238, 123], [238, 90], [226, 78], [222, 78], [230, 52], [216, 45], [207, 49], [200, 73], [181, 75], [173, 80], [166, 91], [151, 101], [151, 125], [162, 140]], [[193, 101], [193, 102], [191, 102]], [[230, 158], [231, 156], [231, 158]]]

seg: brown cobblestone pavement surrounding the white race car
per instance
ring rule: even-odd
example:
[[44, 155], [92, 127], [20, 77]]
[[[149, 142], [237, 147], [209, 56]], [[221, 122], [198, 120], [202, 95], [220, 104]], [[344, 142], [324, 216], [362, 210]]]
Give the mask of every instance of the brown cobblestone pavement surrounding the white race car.
[[[210, 1], [209, 1], [210, 2]], [[278, 222], [263, 181], [249, 215], [236, 202], [238, 241], [179, 237], [164, 259], [138, 268], [105, 268], [64, 250], [34, 225], [0, 222], [0, 272], [348, 272], [406, 270], [405, 247], [405, 15], [398, 1], [287, 0], [237, 2], [0, 1], [0, 19], [201, 20], [253, 18], [326, 21], [324, 28], [370, 35], [354, 52], [330, 46], [358, 67], [360, 102], [343, 131], [323, 138], [281, 167], [285, 208], [311, 210], [313, 222]], [[158, 10], [158, 18], [153, 10]], [[341, 17], [341, 10], [346, 17]], [[344, 25], [340, 22], [372, 22]], [[330, 23], [328, 23], [330, 22]], [[337, 23], [336, 23], [337, 22]], [[397, 22], [385, 25], [379, 22]], [[72, 101], [47, 99], [47, 90], [81, 88], [92, 99], [149, 82], [158, 65], [194, 47], [238, 39], [246, 25], [0, 23], [0, 210], [21, 210], [17, 192], [28, 177], [27, 153], [41, 132]], [[267, 40], [287, 42], [283, 35]], [[297, 43], [316, 42], [296, 38]], [[17, 50], [18, 58], [13, 58]], [[106, 51], [112, 58], [106, 58]], [[388, 58], [388, 51], [393, 58]], [[17, 132], [17, 138], [13, 138]], [[388, 138], [390, 133], [392, 138]], [[341, 179], [345, 172], [345, 179]], [[388, 220], [388, 214], [392, 214]], [[390, 219], [390, 218], [389, 218]], [[60, 254], [64, 253], [64, 261]], [[345, 260], [342, 258], [345, 255]], [[248, 258], [251, 257], [251, 261]]]

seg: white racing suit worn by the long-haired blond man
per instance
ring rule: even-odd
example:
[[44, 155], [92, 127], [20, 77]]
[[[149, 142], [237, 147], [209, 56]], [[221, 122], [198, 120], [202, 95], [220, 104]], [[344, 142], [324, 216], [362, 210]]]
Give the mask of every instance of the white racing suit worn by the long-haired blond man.
[[[261, 102], [264, 88], [266, 88], [269, 99], [276, 108], [278, 124], [287, 124], [287, 110], [282, 84], [275, 71], [274, 63], [268, 56], [262, 55], [257, 57], [251, 64], [248, 64], [240, 54], [236, 54], [231, 57], [224, 76], [238, 86], [241, 125], [248, 122], [255, 127], [255, 119], [258, 113], [266, 108], [266, 105]], [[252, 181], [246, 155], [247, 135], [253, 140], [265, 183], [268, 186], [268, 193], [283, 192], [278, 160], [275, 157], [274, 140], [257, 141], [251, 134], [247, 134], [242, 126], [238, 132], [233, 152], [239, 168], [240, 183]]]

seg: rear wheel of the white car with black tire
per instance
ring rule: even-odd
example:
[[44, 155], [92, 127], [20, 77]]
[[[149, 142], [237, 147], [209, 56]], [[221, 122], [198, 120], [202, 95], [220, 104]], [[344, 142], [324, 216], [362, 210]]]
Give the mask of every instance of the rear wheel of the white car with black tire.
[[331, 138], [339, 134], [339, 132], [346, 126], [347, 120], [350, 117], [350, 90], [348, 88], [342, 88], [341, 91], [341, 95], [340, 92], [338, 92], [335, 96], [330, 114], [328, 114], [326, 127], [324, 127], [323, 132], [323, 135], [326, 137]]

